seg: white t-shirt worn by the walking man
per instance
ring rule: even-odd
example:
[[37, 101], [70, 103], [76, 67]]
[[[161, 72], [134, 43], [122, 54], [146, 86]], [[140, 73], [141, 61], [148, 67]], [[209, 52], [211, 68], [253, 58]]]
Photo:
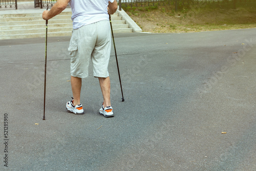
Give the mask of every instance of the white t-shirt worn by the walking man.
[[109, 20], [108, 5], [114, 0], [70, 0], [69, 5], [72, 10], [71, 19], [73, 29], [78, 29], [84, 25]]

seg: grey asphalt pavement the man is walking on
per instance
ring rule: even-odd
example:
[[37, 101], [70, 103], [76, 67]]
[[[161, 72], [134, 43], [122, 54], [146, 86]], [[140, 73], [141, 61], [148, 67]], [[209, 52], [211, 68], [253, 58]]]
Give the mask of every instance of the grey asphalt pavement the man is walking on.
[[92, 67], [86, 114], [66, 111], [70, 37], [52, 37], [42, 120], [45, 39], [1, 40], [0, 169], [256, 170], [255, 31], [115, 34], [125, 101], [112, 50], [113, 118], [98, 113]]

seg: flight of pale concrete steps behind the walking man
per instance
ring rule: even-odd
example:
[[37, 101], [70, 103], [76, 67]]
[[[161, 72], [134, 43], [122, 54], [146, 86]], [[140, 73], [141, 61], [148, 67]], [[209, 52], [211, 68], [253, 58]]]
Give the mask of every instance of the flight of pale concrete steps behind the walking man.
[[[62, 12], [48, 21], [48, 36], [71, 36], [71, 12]], [[114, 33], [132, 32], [118, 13], [111, 15]], [[0, 15], [0, 39], [45, 37], [45, 20], [41, 13]]]

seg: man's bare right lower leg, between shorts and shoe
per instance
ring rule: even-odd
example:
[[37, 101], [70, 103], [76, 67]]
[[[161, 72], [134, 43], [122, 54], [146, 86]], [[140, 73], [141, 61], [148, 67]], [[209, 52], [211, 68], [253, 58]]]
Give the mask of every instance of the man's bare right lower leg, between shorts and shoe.
[[103, 108], [111, 106], [110, 102], [110, 77], [99, 77], [100, 89], [103, 95]]

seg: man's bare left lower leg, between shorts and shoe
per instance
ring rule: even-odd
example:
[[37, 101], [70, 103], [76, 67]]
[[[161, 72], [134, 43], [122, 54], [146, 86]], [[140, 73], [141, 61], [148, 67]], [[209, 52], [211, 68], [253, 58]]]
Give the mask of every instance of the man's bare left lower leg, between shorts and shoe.
[[73, 104], [76, 106], [80, 104], [80, 93], [82, 87], [82, 78], [71, 76], [71, 87], [73, 92]]

